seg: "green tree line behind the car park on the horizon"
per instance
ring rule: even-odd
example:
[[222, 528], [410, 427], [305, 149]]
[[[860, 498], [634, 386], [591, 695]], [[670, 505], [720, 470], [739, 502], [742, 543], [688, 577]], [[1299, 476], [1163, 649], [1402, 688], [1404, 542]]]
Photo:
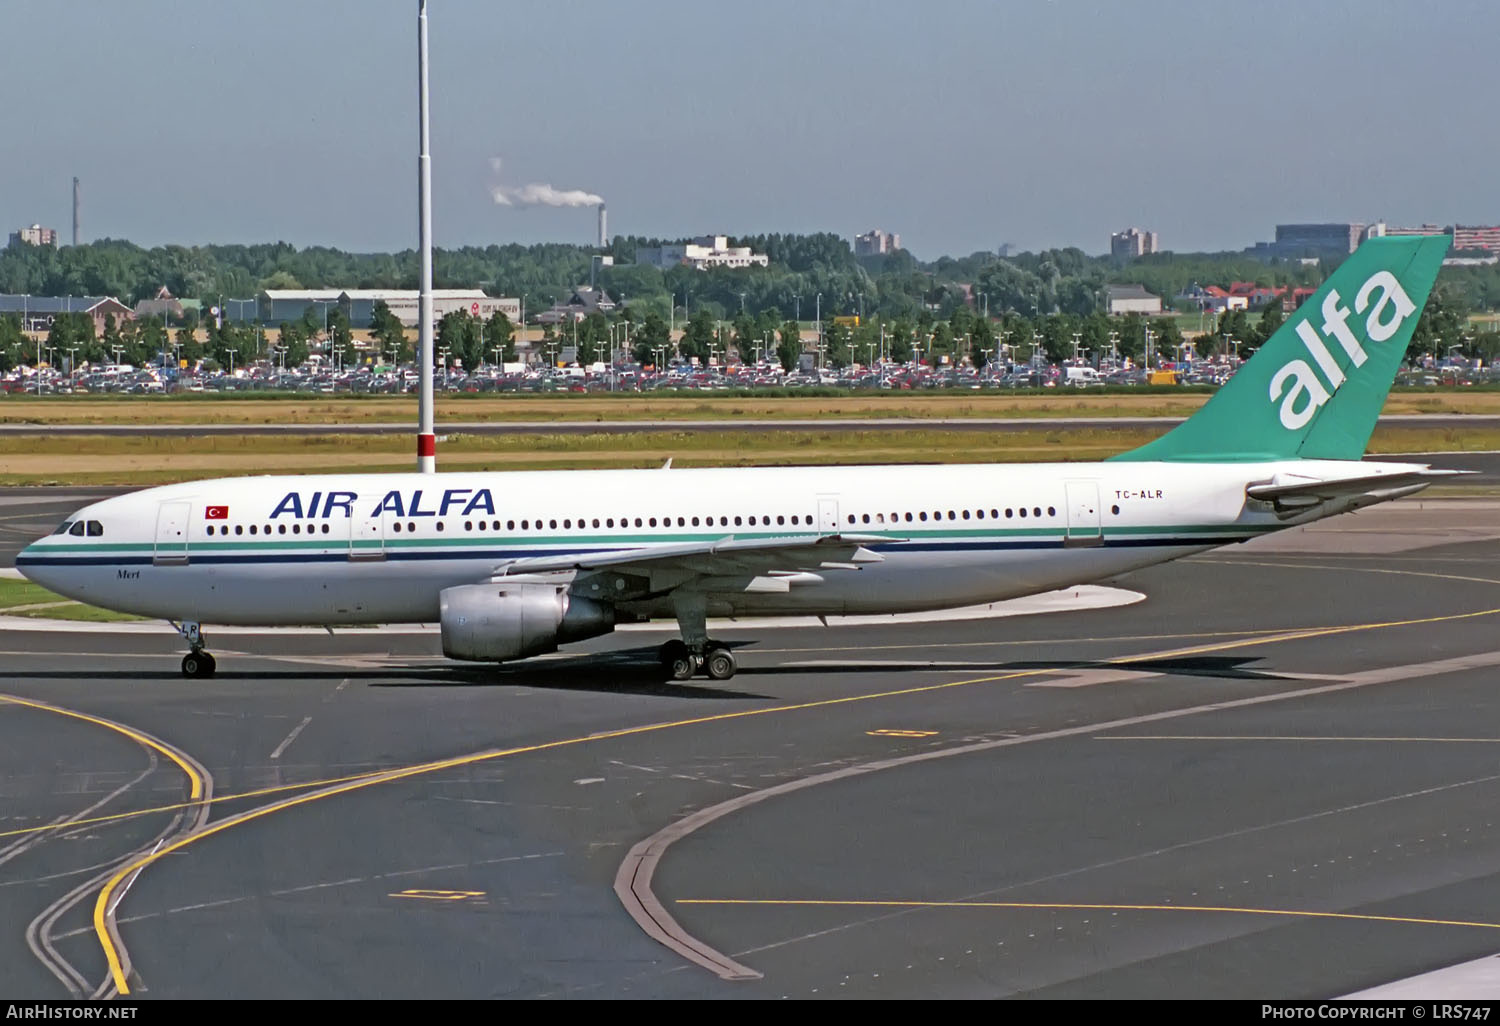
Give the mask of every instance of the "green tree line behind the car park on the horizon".
[[[1040, 350], [1058, 360], [1080, 348], [1098, 356], [1112, 348], [1138, 356], [1146, 332], [1167, 346], [1180, 342], [1176, 322], [1155, 324], [1143, 318], [1106, 318], [1104, 286], [1140, 284], [1172, 297], [1188, 285], [1251, 280], [1266, 286], [1316, 285], [1332, 264], [1304, 266], [1299, 261], [1262, 262], [1245, 254], [1154, 254], [1132, 261], [1089, 256], [1078, 249], [1047, 249], [1000, 258], [980, 252], [921, 261], [906, 250], [856, 258], [849, 243], [831, 232], [764, 234], [732, 238], [765, 252], [770, 267], [660, 270], [634, 264], [640, 246], [663, 240], [616, 236], [608, 250], [614, 266], [596, 266], [588, 246], [543, 243], [438, 249], [434, 284], [438, 288], [484, 288], [492, 296], [525, 297], [528, 310], [546, 309], [562, 300], [596, 272], [598, 284], [622, 309], [612, 318], [591, 316], [568, 328], [558, 346], [573, 346], [584, 357], [609, 346], [628, 346], [639, 360], [657, 358], [668, 345], [672, 326], [684, 326], [675, 340], [684, 356], [708, 358], [734, 346], [742, 358], [780, 351], [783, 363], [795, 362], [792, 344], [783, 339], [789, 322], [820, 320], [824, 352], [830, 362], [867, 362], [872, 346], [894, 358], [900, 354], [936, 354], [982, 364], [1002, 354]], [[324, 246], [297, 249], [286, 243], [231, 246], [158, 246], [146, 249], [123, 240], [100, 240], [84, 246], [12, 246], [0, 250], [0, 292], [33, 296], [116, 296], [134, 304], [165, 285], [180, 298], [196, 298], [206, 308], [225, 300], [248, 300], [266, 288], [414, 288], [414, 250], [396, 254], [350, 254]], [[1440, 351], [1464, 342], [1479, 356], [1500, 352], [1500, 338], [1470, 333], [1473, 312], [1500, 309], [1500, 267], [1444, 267], [1434, 297], [1418, 327], [1416, 346]], [[858, 315], [854, 328], [837, 316]], [[1280, 316], [1280, 310], [1275, 316]], [[1268, 336], [1274, 315], [1230, 312], [1214, 326], [1208, 346], [1227, 346], [1230, 339], [1252, 350]], [[513, 346], [508, 321], [471, 322], [468, 315], [450, 315], [440, 326], [440, 348], [465, 364], [492, 362], [495, 345]], [[69, 346], [78, 358], [112, 357], [123, 346], [128, 362], [141, 363], [171, 346], [180, 358], [207, 357], [226, 363], [262, 352], [264, 340], [254, 326], [206, 321], [208, 339], [194, 338], [194, 315], [162, 322], [141, 318], [105, 326], [93, 338], [82, 315], [58, 318], [48, 345]], [[321, 314], [279, 326], [288, 366], [306, 358], [309, 345], [322, 342]], [[1110, 339], [1110, 333], [1118, 338]], [[345, 358], [352, 334], [342, 315], [330, 312], [327, 348]], [[370, 334], [382, 356], [410, 358], [410, 344], [399, 322], [384, 310]], [[795, 332], [790, 333], [795, 340]], [[550, 339], [549, 339], [550, 340]], [[784, 351], [782, 346], [788, 346]], [[1200, 345], [1200, 352], [1204, 345]], [[1017, 350], [1018, 346], [1018, 350]], [[507, 350], [508, 352], [510, 350]], [[87, 352], [88, 356], [81, 356]], [[507, 358], [506, 352], [500, 354]], [[20, 326], [0, 318], [0, 368], [34, 358], [21, 346]]]

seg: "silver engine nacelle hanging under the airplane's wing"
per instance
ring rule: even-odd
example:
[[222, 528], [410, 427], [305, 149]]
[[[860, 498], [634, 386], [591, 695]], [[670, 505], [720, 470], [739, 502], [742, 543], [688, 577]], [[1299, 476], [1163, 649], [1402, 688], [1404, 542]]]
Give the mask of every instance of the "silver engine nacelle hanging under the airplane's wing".
[[442, 654], [501, 663], [554, 652], [564, 642], [608, 634], [615, 609], [546, 584], [483, 584], [444, 588]]

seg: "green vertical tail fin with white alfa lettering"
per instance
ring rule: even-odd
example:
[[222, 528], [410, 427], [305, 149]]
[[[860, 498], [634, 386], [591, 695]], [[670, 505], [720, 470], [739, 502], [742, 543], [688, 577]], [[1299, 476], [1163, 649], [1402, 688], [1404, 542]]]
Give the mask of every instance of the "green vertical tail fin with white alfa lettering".
[[1359, 459], [1448, 243], [1365, 242], [1202, 410], [1113, 459]]

